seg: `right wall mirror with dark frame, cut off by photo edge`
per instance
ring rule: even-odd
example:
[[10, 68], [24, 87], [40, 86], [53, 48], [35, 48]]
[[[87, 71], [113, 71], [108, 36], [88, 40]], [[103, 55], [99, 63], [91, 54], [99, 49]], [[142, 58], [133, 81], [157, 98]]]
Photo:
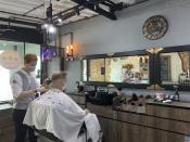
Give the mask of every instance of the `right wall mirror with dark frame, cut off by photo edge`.
[[159, 54], [160, 83], [167, 88], [174, 85], [187, 90], [190, 85], [190, 46], [165, 48]]

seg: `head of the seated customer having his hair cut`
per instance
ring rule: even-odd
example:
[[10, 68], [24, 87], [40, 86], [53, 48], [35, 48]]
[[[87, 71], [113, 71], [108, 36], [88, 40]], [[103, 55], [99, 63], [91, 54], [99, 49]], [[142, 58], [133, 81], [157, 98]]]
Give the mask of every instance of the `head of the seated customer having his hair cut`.
[[66, 73], [56, 72], [51, 77], [52, 88], [63, 90], [66, 83]]

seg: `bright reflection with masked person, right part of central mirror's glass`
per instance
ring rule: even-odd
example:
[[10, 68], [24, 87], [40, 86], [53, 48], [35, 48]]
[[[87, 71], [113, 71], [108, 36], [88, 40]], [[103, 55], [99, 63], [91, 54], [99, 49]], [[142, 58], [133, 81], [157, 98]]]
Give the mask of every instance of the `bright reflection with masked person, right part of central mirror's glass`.
[[121, 56], [105, 59], [105, 81], [149, 83], [149, 56]]

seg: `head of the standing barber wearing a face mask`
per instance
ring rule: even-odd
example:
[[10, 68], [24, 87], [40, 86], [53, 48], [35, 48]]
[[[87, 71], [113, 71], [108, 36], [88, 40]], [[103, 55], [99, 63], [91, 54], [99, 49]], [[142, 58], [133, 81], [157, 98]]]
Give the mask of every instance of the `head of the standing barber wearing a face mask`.
[[24, 66], [27, 72], [34, 72], [36, 69], [37, 64], [37, 55], [33, 53], [28, 53], [24, 56]]

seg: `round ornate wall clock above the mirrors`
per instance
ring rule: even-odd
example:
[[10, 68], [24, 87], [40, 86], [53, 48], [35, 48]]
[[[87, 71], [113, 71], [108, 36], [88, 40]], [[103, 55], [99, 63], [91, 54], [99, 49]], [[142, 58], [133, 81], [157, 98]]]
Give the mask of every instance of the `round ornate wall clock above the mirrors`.
[[149, 17], [142, 27], [142, 31], [145, 38], [156, 40], [162, 38], [168, 29], [168, 23], [165, 17], [155, 15]]

